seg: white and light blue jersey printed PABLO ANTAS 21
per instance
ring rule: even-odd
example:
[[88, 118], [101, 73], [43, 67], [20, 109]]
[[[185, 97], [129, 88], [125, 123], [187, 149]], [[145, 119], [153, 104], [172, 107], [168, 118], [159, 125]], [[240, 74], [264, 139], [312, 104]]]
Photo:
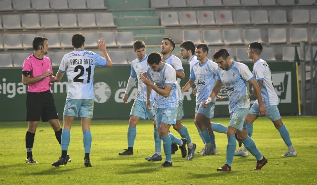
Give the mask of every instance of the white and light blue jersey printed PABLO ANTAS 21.
[[105, 67], [108, 61], [92, 51], [74, 50], [64, 55], [59, 71], [66, 72], [67, 98], [94, 99], [95, 66]]

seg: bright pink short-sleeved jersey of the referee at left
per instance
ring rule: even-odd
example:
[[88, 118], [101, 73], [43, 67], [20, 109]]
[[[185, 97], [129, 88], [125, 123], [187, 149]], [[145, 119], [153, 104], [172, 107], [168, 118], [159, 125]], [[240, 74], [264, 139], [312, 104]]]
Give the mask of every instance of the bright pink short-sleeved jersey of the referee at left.
[[[31, 71], [31, 78], [42, 75], [48, 70], [53, 74], [51, 61], [46, 56], [43, 56], [43, 59], [38, 59], [32, 54], [23, 62], [22, 71]], [[29, 84], [28, 92], [44, 92], [50, 89], [49, 77], [45, 77], [36, 83]]]

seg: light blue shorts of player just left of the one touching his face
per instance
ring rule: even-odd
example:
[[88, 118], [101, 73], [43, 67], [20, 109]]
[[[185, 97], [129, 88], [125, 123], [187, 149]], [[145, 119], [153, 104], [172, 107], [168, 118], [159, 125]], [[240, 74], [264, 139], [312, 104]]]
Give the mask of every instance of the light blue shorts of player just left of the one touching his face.
[[[153, 102], [151, 101], [151, 108], [153, 107]], [[146, 108], [146, 101], [140, 101], [134, 99], [133, 106], [130, 111], [130, 116], [137, 116], [142, 120], [153, 119], [153, 112]]]

